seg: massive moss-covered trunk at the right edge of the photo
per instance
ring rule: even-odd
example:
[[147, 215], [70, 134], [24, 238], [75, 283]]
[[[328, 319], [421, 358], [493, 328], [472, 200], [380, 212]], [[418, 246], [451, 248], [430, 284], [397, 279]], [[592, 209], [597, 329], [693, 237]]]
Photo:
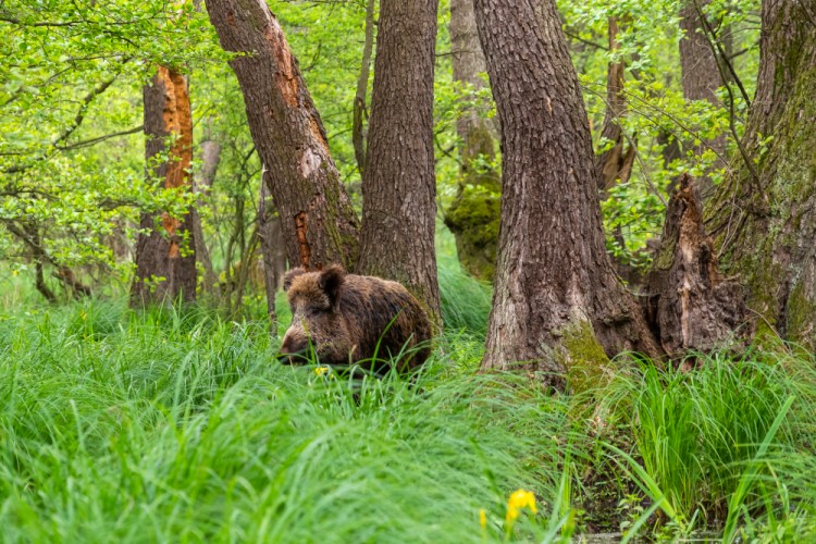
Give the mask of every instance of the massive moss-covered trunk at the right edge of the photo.
[[[706, 214], [724, 271], [749, 289], [758, 333], [816, 345], [816, 7], [765, 0], [743, 139], [752, 160]], [[770, 141], [763, 138], [772, 135]]]

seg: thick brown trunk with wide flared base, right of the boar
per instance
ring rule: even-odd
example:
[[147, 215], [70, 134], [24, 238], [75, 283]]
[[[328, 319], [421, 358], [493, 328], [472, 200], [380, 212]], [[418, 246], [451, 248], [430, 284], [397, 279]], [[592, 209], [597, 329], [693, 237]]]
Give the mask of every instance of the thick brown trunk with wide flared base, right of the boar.
[[482, 366], [526, 363], [558, 386], [566, 371], [580, 388], [602, 379], [607, 356], [660, 349], [606, 252], [589, 121], [554, 0], [475, 0], [475, 14], [504, 151]]

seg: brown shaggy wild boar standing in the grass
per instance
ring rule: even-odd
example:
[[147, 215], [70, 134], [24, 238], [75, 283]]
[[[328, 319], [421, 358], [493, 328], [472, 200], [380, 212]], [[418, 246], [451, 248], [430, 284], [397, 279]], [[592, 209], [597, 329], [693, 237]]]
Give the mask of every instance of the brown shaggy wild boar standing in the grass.
[[[400, 353], [399, 370], [419, 367], [430, 355], [431, 322], [420, 304], [396, 282], [347, 274], [332, 265], [322, 272], [293, 269], [284, 276], [292, 325], [281, 344], [290, 361], [311, 345], [322, 363], [359, 362], [387, 371]], [[379, 347], [378, 347], [379, 344]], [[376, 357], [376, 360], [373, 360]]]

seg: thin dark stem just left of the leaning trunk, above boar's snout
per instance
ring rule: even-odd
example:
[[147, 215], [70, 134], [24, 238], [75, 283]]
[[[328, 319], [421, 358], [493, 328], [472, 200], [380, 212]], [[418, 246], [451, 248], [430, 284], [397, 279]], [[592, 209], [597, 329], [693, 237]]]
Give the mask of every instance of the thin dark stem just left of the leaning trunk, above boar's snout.
[[[264, 176], [267, 173], [264, 172]], [[286, 272], [286, 251], [281, 219], [277, 210], [269, 198], [267, 184], [261, 185], [258, 209], [258, 230], [263, 259], [263, 285], [267, 292], [267, 317], [270, 332], [277, 336], [277, 312], [275, 311], [275, 294], [283, 286], [283, 275]]]

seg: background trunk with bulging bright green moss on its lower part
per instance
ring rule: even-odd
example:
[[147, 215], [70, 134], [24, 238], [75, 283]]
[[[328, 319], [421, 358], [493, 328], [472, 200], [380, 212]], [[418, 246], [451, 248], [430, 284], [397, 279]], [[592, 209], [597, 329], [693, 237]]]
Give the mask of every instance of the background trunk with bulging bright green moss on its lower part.
[[[487, 64], [479, 42], [473, 0], [452, 0], [450, 46], [454, 81], [469, 84], [477, 90], [484, 88], [484, 79], [479, 74], [487, 71]], [[454, 233], [462, 268], [475, 277], [492, 282], [496, 273], [502, 183], [498, 172], [484, 170], [477, 161], [496, 158], [494, 129], [472, 102], [463, 103], [462, 109], [456, 122], [461, 140], [459, 187], [445, 212], [445, 224]]]

